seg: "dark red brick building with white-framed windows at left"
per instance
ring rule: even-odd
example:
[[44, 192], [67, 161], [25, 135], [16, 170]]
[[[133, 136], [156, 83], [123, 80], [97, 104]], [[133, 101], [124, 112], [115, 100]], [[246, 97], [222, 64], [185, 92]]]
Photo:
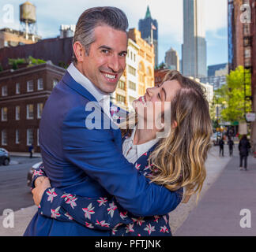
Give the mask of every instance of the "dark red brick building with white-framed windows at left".
[[43, 105], [65, 69], [51, 62], [0, 72], [0, 146], [13, 152], [40, 152], [38, 133]]

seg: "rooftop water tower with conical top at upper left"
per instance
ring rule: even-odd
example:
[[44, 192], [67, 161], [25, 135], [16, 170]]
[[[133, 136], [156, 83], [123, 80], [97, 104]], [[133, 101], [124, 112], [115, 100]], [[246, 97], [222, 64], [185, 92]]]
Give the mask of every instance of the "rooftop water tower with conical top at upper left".
[[20, 5], [20, 21], [26, 39], [28, 39], [28, 34], [36, 34], [36, 6], [33, 6], [31, 2], [27, 1]]

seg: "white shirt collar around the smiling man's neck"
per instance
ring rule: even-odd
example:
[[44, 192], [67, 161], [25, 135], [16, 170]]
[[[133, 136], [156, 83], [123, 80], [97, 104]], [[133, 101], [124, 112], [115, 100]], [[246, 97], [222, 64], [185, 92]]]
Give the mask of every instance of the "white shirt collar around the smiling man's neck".
[[66, 69], [67, 72], [70, 73], [70, 76], [77, 83], [81, 84], [82, 87], [91, 93], [96, 98], [97, 102], [101, 102], [104, 100], [109, 101], [110, 95], [106, 95], [104, 92], [100, 91], [87, 77], [85, 77], [74, 65], [73, 63]]

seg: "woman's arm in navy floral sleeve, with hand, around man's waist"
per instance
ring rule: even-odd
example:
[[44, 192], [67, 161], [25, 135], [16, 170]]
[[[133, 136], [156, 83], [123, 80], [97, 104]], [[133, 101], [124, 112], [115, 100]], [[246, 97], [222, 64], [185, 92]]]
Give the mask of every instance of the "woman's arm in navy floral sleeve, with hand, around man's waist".
[[58, 221], [77, 221], [88, 228], [111, 230], [120, 224], [133, 223], [115, 198], [83, 198], [51, 187], [45, 179], [32, 190], [40, 213]]

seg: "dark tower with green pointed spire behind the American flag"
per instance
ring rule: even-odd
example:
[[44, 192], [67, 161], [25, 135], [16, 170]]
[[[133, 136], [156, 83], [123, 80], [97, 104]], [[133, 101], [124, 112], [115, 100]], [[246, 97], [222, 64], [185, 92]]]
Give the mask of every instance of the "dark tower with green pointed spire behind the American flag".
[[[155, 67], [158, 65], [158, 24], [152, 19], [149, 6], [144, 19], [140, 19], [138, 29], [141, 31], [141, 38], [149, 44], [153, 43], [155, 48]], [[153, 40], [153, 41], [152, 41]]]

